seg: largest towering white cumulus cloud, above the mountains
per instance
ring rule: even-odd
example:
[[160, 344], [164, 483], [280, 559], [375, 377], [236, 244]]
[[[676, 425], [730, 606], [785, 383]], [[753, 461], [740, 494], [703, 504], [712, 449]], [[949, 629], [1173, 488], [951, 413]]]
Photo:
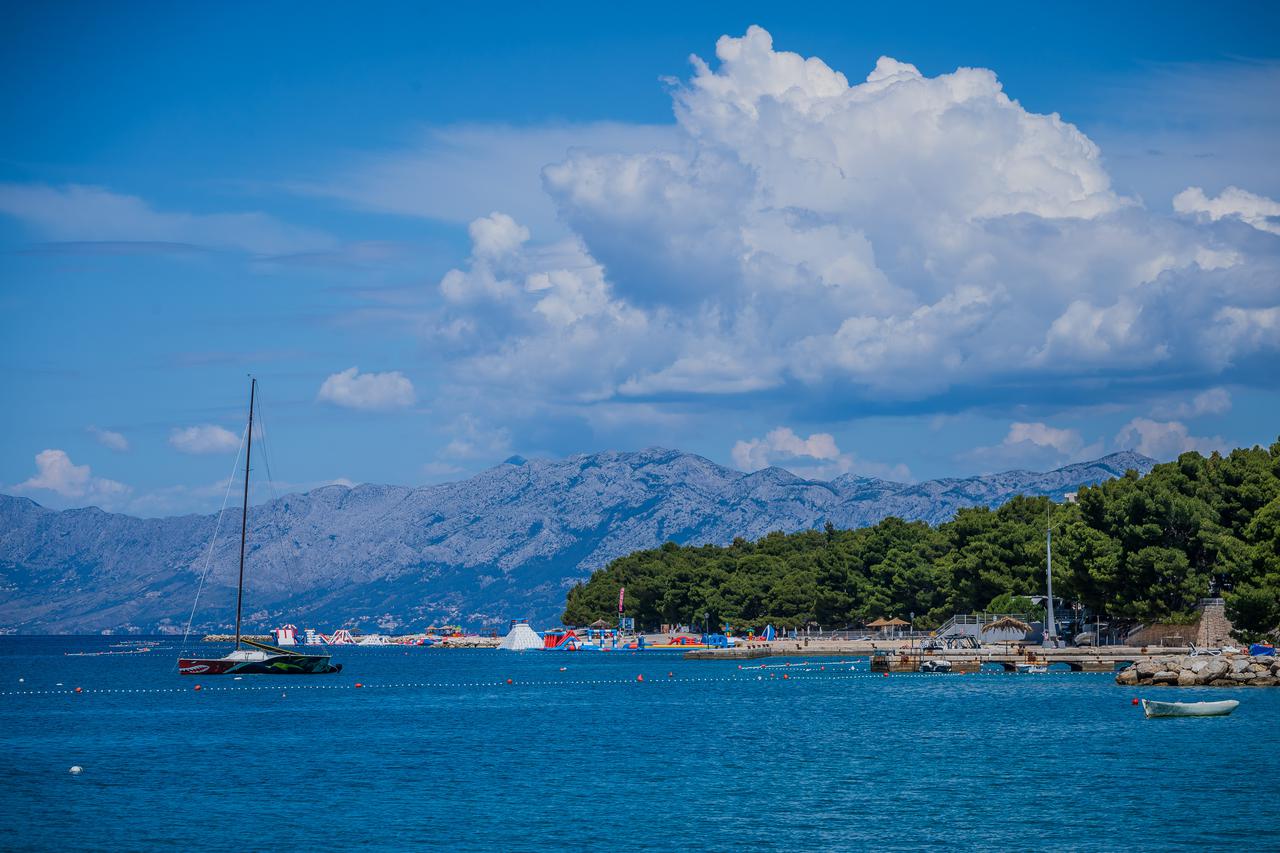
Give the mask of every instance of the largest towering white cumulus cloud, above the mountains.
[[1277, 248], [1119, 195], [995, 72], [881, 58], [856, 79], [759, 27], [716, 59], [673, 86], [666, 145], [543, 169], [570, 237], [472, 222], [424, 327], [460, 387], [974, 400], [1280, 350]]

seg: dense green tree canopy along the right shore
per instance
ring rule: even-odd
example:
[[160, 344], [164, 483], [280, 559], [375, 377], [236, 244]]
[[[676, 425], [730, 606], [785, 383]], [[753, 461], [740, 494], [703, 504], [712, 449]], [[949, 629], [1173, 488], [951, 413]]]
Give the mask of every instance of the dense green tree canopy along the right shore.
[[639, 625], [918, 625], [1041, 594], [1053, 528], [1053, 592], [1111, 619], [1185, 620], [1211, 594], [1242, 637], [1280, 626], [1280, 441], [1229, 456], [1184, 453], [1146, 476], [1080, 489], [1075, 503], [1015, 497], [938, 526], [771, 533], [727, 547], [673, 542], [614, 560], [573, 587], [564, 622], [616, 615]]

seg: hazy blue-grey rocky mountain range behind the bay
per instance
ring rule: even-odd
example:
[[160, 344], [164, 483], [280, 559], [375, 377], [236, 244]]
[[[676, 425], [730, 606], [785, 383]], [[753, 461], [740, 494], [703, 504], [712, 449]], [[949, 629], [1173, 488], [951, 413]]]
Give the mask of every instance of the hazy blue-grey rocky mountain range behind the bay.
[[[1061, 498], [1155, 461], [1114, 453], [1047, 474], [1009, 471], [904, 484], [845, 475], [805, 480], [778, 467], [742, 474], [650, 448], [558, 461], [513, 457], [426, 488], [329, 485], [250, 508], [246, 621], [417, 629], [431, 622], [554, 621], [564, 590], [593, 569], [667, 540], [728, 543], [831, 521], [896, 515], [945, 521], [1014, 494]], [[134, 519], [54, 511], [0, 496], [0, 629], [23, 633], [180, 630], [234, 621], [239, 519]]]

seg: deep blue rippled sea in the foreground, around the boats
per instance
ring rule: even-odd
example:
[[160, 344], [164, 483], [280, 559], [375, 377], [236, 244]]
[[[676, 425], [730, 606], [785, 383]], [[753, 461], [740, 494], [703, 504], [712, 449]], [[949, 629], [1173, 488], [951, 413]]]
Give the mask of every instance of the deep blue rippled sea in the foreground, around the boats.
[[1240, 707], [1146, 720], [1069, 672], [346, 647], [338, 675], [234, 681], [177, 675], [173, 639], [68, 654], [120, 642], [0, 638], [0, 848], [1280, 849], [1280, 689], [1148, 690]]

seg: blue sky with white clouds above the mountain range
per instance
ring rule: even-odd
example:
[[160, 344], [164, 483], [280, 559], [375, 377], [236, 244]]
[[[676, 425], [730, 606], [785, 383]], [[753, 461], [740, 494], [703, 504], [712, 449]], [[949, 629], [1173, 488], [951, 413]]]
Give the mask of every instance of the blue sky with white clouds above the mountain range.
[[250, 371], [278, 491], [650, 444], [924, 479], [1276, 438], [1274, 5], [8, 24], [8, 493], [216, 508]]

